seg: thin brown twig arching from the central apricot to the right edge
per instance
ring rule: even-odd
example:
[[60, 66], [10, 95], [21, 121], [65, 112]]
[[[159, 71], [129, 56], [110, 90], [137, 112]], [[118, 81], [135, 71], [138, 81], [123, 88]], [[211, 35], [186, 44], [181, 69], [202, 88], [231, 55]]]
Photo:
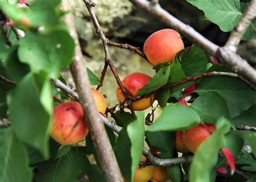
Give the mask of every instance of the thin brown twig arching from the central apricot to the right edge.
[[195, 80], [202, 79], [202, 78], [210, 78], [210, 77], [217, 77], [217, 76], [230, 77], [230, 78], [235, 78], [235, 79], [244, 81], [244, 82], [247, 83], [248, 86], [250, 86], [252, 89], [256, 90], [256, 86], [253, 87], [253, 85], [251, 85], [251, 83], [249, 83], [247, 80], [245, 80], [244, 78], [242, 78], [238, 74], [227, 73], [227, 72], [208, 72], [208, 73], [203, 73], [203, 74], [196, 75], [196, 76], [187, 76], [183, 80], [167, 84], [167, 85], [165, 85], [165, 86], [163, 86], [163, 87], [161, 87], [161, 88], [159, 88], [157, 90], [154, 90], [153, 92], [151, 92], [149, 94], [145, 94], [145, 95], [142, 95], [142, 96], [131, 97], [129, 99], [126, 99], [123, 103], [121, 103], [121, 106], [124, 105], [124, 104], [128, 104], [128, 103], [131, 103], [131, 102], [138, 101], [138, 100], [140, 100], [142, 98], [150, 97], [152, 94], [155, 94], [155, 93], [159, 92], [159, 90], [161, 90], [161, 89], [176, 87], [176, 86], [179, 86], [179, 85], [181, 85], [183, 83], [186, 83], [186, 82], [189, 82], [189, 81], [195, 81]]

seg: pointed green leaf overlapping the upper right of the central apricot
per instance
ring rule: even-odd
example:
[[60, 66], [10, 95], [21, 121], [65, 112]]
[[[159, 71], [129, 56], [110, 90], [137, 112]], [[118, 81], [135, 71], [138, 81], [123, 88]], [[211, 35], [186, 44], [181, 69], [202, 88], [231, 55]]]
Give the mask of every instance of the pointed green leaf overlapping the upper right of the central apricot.
[[142, 89], [139, 89], [137, 95], [145, 95], [157, 90], [158, 88], [164, 86], [170, 76], [170, 66], [162, 67], [159, 69], [156, 75], [153, 76], [152, 79], [147, 81], [147, 85], [144, 86]]

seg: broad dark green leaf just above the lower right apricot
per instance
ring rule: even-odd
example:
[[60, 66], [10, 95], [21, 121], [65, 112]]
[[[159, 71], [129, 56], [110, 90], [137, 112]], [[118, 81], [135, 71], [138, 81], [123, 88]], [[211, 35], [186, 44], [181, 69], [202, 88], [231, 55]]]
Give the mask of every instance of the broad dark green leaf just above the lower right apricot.
[[197, 111], [204, 122], [215, 123], [221, 116], [232, 121], [227, 108], [227, 102], [215, 92], [200, 95], [190, 106]]

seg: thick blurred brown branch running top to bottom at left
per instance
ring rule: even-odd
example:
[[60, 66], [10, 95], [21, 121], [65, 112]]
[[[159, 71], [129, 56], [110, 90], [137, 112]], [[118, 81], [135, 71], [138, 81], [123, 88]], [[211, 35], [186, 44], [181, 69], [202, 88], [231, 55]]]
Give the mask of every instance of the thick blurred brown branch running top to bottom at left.
[[[62, 8], [64, 11], [70, 10], [69, 0], [62, 1]], [[104, 172], [107, 181], [122, 182], [122, 174], [114, 156], [109, 137], [107, 137], [104, 124], [100, 122], [99, 113], [93, 100], [90, 81], [86, 73], [83, 54], [79, 45], [78, 35], [75, 28], [75, 20], [71, 13], [65, 16], [65, 23], [68, 25], [70, 34], [75, 40], [75, 57], [71, 65], [71, 72], [75, 79], [80, 103], [83, 106], [85, 113], [85, 120], [91, 134], [93, 145], [97, 153], [100, 166]]]

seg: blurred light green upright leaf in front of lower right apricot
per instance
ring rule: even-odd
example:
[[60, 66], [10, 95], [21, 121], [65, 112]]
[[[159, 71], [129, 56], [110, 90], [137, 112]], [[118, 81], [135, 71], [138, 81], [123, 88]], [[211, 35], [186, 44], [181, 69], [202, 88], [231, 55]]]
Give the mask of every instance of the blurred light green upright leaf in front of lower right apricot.
[[211, 181], [211, 172], [217, 164], [219, 149], [230, 127], [230, 123], [224, 117], [217, 121], [216, 131], [199, 146], [193, 157], [189, 172], [190, 181]]

